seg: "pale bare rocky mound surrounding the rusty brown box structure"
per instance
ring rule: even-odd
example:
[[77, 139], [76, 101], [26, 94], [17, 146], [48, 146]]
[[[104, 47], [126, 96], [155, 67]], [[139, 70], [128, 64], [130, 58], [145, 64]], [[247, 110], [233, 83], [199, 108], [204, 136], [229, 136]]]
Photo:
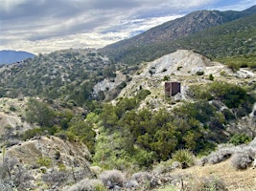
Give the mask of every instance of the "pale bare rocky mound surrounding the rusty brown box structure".
[[151, 95], [144, 100], [144, 106], [148, 104], [155, 109], [169, 107], [170, 105], [165, 104], [165, 81], [180, 82], [180, 98], [187, 99], [188, 87], [193, 84], [210, 83], [210, 74], [215, 80], [228, 79], [229, 82], [238, 84], [253, 82], [256, 76], [255, 72], [246, 69], [234, 73], [227, 66], [213, 62], [201, 54], [179, 50], [152, 62], [144, 62], [143, 68], [133, 75], [132, 80], [121, 91], [119, 97], [135, 96], [139, 89], [143, 88], [151, 91]]

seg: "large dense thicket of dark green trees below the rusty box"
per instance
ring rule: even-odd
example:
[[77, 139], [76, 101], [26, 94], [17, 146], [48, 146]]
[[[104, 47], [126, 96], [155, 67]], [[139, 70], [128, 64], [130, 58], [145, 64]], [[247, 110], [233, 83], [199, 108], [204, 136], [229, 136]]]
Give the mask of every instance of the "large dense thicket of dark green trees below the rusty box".
[[[106, 105], [101, 119], [103, 119], [108, 134], [118, 131], [127, 139], [123, 141], [129, 142], [129, 144], [122, 149], [128, 156], [134, 152], [134, 143], [142, 149], [153, 152], [154, 159], [157, 160], [170, 159], [172, 152], [177, 148], [188, 148], [194, 151], [203, 148], [203, 128], [198, 119], [201, 121], [209, 119], [207, 115], [211, 116], [214, 112], [210, 105], [198, 103], [198, 105], [190, 106], [191, 109], [197, 106], [198, 110], [195, 109], [192, 113], [189, 113], [189, 110], [175, 110], [173, 116], [165, 110], [153, 113], [145, 109], [136, 112], [133, 107], [126, 107], [131, 106], [131, 103], [127, 101], [130, 99], [122, 99], [116, 106]], [[206, 113], [203, 113], [204, 107], [208, 109], [205, 111]], [[117, 113], [117, 111], [119, 112]], [[131, 155], [129, 158], [133, 157]], [[142, 161], [139, 163], [149, 163], [152, 160], [143, 159]]]

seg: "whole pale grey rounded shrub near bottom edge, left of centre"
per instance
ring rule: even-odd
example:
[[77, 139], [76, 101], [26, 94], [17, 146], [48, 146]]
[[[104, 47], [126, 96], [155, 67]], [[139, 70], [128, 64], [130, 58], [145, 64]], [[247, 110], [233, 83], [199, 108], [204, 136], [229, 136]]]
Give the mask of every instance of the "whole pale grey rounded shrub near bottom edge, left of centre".
[[99, 176], [107, 188], [114, 188], [115, 186], [124, 186], [125, 175], [119, 170], [106, 170]]

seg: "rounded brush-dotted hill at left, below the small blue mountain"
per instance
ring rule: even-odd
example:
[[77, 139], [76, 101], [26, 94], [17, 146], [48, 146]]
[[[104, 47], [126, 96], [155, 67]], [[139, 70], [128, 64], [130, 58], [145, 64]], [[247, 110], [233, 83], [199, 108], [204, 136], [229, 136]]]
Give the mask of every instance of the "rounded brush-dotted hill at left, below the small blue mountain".
[[95, 84], [105, 78], [114, 81], [116, 76], [116, 65], [96, 50], [40, 54], [0, 68], [0, 96], [43, 96], [81, 105], [85, 100], [104, 99], [103, 93], [93, 95]]

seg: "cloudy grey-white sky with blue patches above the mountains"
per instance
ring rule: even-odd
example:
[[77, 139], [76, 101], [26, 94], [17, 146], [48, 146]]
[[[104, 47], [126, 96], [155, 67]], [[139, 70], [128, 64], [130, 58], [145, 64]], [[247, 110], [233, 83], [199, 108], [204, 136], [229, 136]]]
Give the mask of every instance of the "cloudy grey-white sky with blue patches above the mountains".
[[256, 0], [0, 0], [0, 50], [102, 48], [192, 11], [243, 11]]

